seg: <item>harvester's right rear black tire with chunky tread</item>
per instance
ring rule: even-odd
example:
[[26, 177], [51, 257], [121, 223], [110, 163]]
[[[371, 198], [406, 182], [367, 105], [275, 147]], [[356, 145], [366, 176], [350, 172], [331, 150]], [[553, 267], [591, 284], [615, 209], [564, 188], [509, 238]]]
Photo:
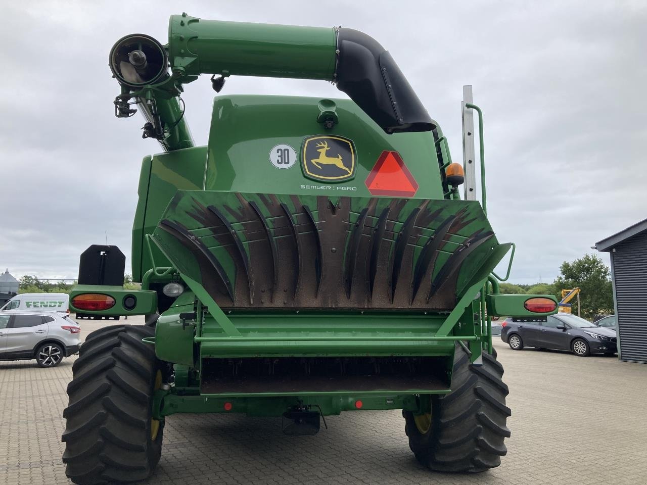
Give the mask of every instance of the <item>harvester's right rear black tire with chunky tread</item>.
[[421, 430], [413, 413], [403, 411], [409, 446], [421, 464], [435, 471], [477, 473], [501, 464], [510, 409], [503, 366], [483, 353], [483, 365], [470, 363], [463, 347], [454, 356], [452, 392], [431, 399], [428, 429]]

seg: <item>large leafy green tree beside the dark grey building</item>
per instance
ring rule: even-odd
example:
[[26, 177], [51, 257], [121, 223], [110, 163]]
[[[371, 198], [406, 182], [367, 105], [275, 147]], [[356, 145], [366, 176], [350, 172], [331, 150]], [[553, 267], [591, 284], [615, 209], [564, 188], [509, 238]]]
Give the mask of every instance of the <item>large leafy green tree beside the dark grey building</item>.
[[[572, 263], [564, 261], [560, 266], [562, 274], [555, 280], [555, 289], [560, 292], [579, 286], [580, 312], [582, 317], [593, 319], [595, 314], [613, 312], [613, 290], [611, 271], [596, 254], [585, 254]], [[577, 314], [577, 301], [571, 300], [572, 310]]]

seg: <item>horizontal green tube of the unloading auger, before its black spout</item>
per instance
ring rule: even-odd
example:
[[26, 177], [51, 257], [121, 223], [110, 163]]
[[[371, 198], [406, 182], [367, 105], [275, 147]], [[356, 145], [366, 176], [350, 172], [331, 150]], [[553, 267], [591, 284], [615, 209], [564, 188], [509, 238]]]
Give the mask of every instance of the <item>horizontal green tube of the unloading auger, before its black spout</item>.
[[173, 72], [186, 76], [265, 76], [333, 80], [334, 28], [204, 20], [171, 16]]

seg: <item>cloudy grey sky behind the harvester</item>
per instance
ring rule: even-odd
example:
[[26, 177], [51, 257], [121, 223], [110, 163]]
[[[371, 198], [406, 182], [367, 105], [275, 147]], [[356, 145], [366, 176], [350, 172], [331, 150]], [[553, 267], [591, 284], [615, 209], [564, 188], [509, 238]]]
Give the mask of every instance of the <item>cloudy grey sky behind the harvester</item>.
[[[499, 241], [518, 244], [514, 283], [552, 281], [562, 261], [647, 217], [644, 1], [12, 2], [0, 29], [3, 270], [76, 277], [80, 253], [105, 233], [129, 257], [140, 162], [159, 146], [141, 139], [138, 114], [113, 116], [107, 56], [133, 32], [165, 43], [180, 9], [370, 34], [441, 124], [454, 160], [461, 87], [474, 85], [490, 222]], [[322, 81], [232, 78], [223, 94], [237, 93], [343, 96]], [[213, 96], [208, 77], [186, 87], [198, 144]]]

